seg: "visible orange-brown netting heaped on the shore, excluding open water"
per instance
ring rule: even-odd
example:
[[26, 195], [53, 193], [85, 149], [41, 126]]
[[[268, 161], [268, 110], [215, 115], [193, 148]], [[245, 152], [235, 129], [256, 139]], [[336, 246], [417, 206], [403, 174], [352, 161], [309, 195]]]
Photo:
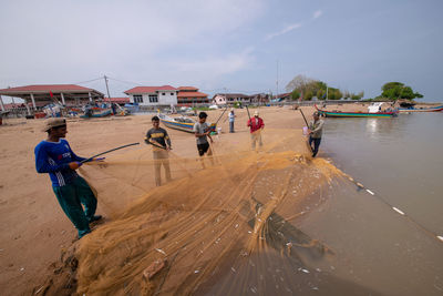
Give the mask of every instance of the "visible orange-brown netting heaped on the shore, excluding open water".
[[[306, 259], [333, 253], [291, 222], [328, 197], [339, 171], [310, 160], [303, 137], [267, 130], [205, 159], [169, 159], [173, 181], [155, 187], [151, 147], [85, 165], [111, 222], [81, 239], [83, 295], [292, 294]], [[226, 151], [226, 147], [225, 147]], [[296, 152], [297, 151], [297, 152]], [[177, 153], [178, 154], [178, 153]], [[163, 172], [162, 172], [163, 174]], [[164, 175], [163, 175], [164, 176]]]

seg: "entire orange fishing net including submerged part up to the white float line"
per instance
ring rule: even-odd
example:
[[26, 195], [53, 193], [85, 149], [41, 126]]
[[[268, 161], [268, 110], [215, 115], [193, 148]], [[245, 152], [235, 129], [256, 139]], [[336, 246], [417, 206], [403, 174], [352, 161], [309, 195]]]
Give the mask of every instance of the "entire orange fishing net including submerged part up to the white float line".
[[214, 137], [202, 159], [192, 134], [173, 134], [171, 181], [145, 144], [80, 169], [107, 222], [65, 261], [79, 295], [441, 293], [441, 243], [311, 159], [300, 130], [266, 127], [257, 151], [245, 130]]

